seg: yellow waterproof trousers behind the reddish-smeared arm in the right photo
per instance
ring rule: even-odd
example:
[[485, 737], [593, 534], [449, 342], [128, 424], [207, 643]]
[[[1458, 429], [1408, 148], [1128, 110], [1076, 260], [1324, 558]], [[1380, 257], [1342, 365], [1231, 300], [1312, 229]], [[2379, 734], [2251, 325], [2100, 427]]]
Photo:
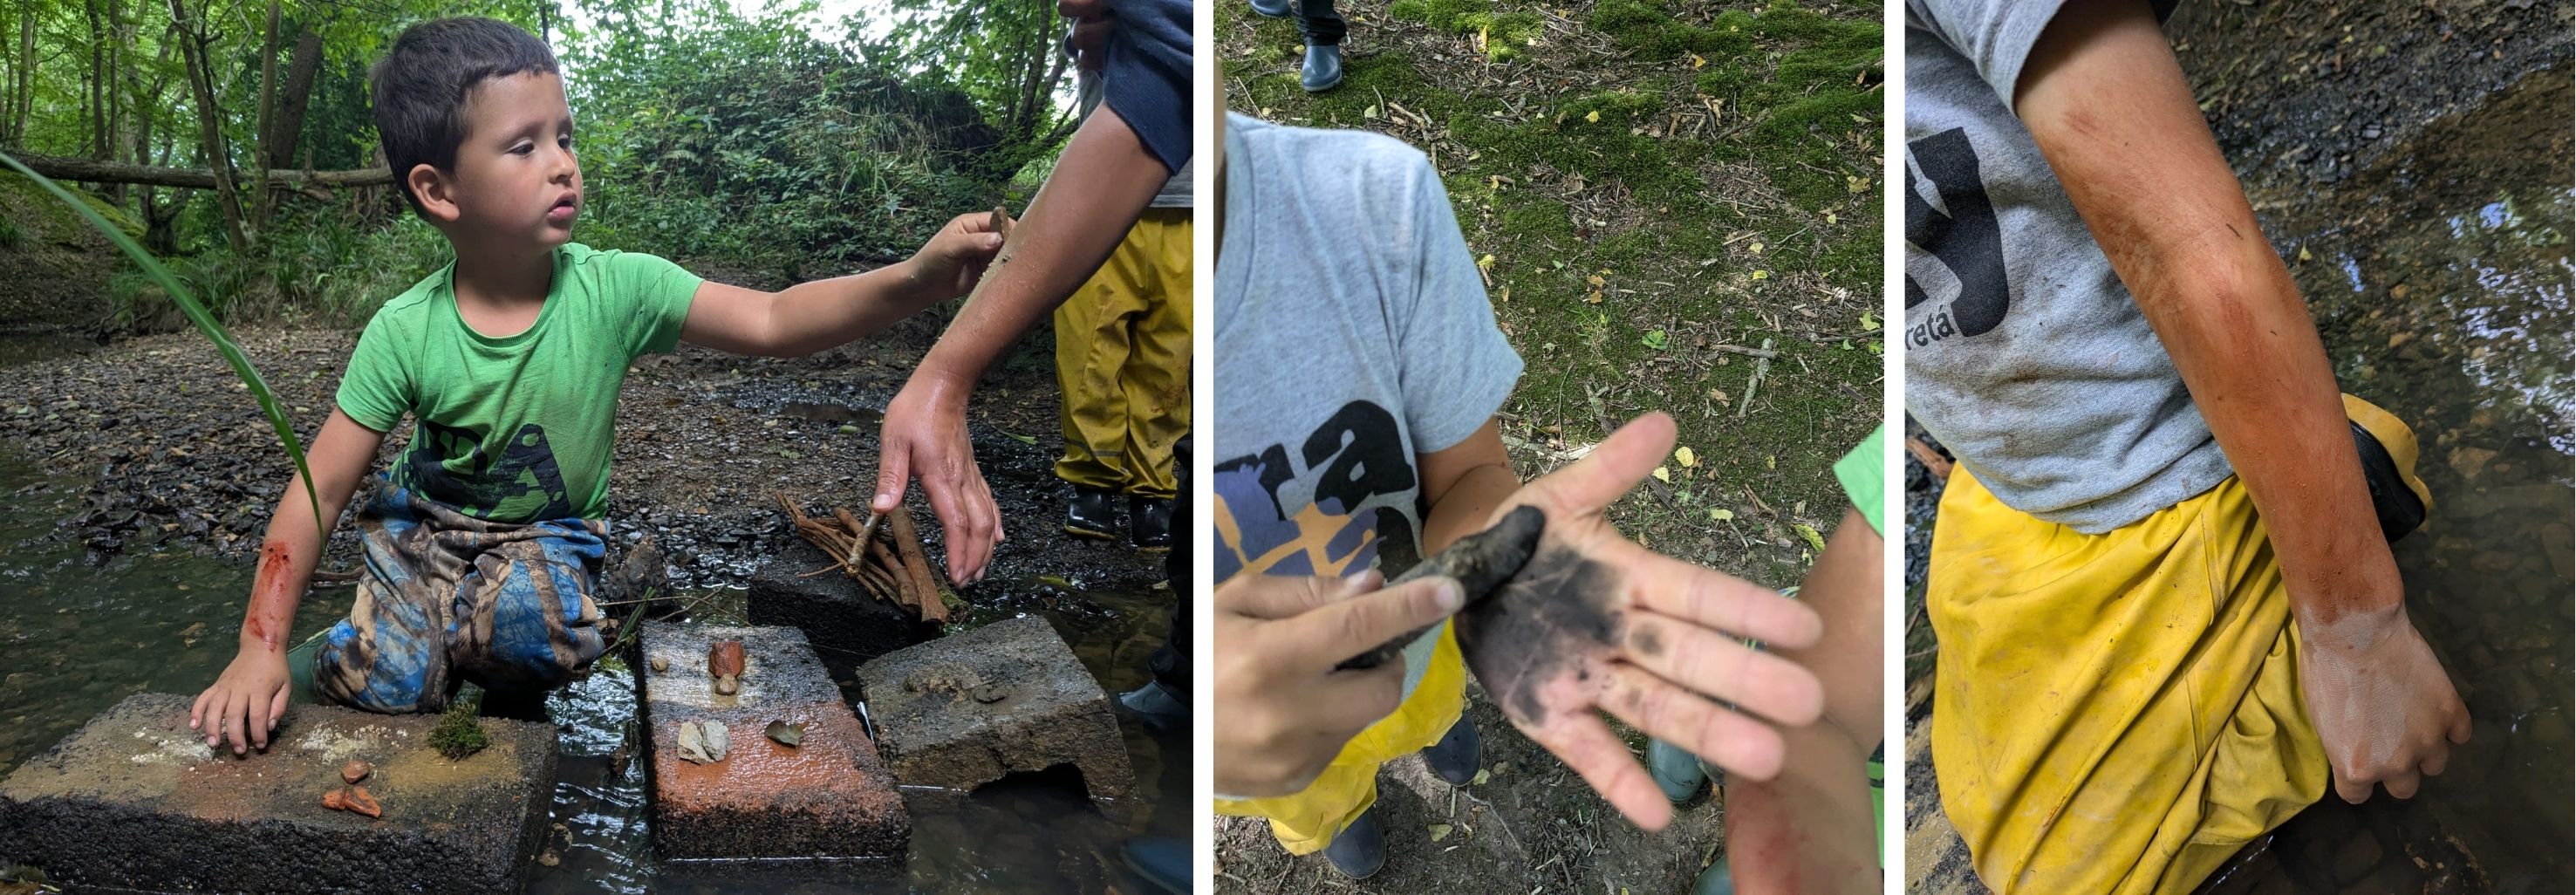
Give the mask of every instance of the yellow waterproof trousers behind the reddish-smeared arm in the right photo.
[[[2421, 495], [2414, 433], [2344, 408]], [[2280, 565], [2233, 477], [2081, 534], [1958, 467], [1924, 601], [1942, 810], [2002, 895], [2190, 892], [2329, 787]]]

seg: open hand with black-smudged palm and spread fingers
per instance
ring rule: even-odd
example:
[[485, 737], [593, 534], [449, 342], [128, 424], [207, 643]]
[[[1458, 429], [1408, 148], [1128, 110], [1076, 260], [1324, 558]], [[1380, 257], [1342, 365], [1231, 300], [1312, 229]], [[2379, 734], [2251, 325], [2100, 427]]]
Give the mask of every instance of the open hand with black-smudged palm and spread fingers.
[[1512, 493], [1494, 518], [1515, 506], [1546, 511], [1538, 555], [1455, 622], [1468, 668], [1512, 725], [1649, 831], [1672, 820], [1672, 802], [1592, 709], [1752, 779], [1780, 774], [1783, 743], [1736, 709], [1780, 725], [1811, 725], [1824, 712], [1814, 673], [1739, 642], [1814, 645], [1824, 632], [1816, 611], [1638, 547], [1602, 518], [1672, 451], [1672, 418], [1649, 413]]

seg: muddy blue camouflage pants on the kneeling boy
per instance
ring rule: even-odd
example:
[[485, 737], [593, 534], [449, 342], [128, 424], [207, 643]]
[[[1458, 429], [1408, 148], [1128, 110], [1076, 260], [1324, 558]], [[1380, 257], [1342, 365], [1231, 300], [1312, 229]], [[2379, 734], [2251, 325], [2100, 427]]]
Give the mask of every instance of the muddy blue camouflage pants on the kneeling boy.
[[322, 637], [314, 694], [368, 712], [438, 712], [456, 686], [544, 691], [600, 658], [608, 526], [497, 524], [402, 487], [358, 513], [366, 578]]

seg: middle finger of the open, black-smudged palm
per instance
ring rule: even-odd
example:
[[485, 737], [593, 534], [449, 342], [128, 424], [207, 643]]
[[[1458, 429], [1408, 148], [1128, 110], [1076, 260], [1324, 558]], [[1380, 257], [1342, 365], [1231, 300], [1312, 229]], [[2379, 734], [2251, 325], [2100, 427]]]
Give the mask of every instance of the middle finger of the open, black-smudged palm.
[[1631, 611], [1625, 637], [1628, 663], [1680, 689], [1783, 725], [1814, 725], [1824, 714], [1816, 673], [1775, 653], [1754, 653], [1734, 637], [1654, 611]]

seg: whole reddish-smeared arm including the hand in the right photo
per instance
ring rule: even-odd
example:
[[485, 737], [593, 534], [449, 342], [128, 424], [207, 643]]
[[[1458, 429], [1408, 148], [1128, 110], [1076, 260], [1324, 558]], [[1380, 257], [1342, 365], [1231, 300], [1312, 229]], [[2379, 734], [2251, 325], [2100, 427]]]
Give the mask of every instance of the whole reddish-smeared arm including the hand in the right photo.
[[2069, 3], [2017, 113], [2269, 529], [2300, 689], [2344, 800], [2411, 797], [2468, 709], [2406, 619], [2324, 340], [2141, 0]]

